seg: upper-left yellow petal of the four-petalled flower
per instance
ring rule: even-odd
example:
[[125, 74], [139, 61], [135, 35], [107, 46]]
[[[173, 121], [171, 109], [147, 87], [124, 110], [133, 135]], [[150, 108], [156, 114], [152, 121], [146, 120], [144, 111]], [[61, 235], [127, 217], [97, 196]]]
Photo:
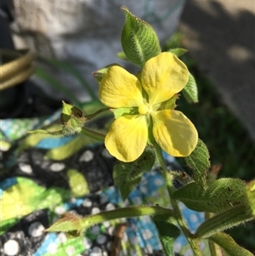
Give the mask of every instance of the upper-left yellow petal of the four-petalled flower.
[[139, 106], [143, 104], [141, 83], [137, 77], [114, 65], [99, 84], [99, 100], [111, 108]]

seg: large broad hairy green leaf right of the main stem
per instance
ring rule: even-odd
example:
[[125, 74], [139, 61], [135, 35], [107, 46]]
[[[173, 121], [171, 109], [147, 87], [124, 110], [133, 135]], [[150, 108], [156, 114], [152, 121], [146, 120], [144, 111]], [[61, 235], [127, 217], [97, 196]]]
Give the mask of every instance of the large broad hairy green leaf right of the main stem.
[[197, 212], [221, 213], [247, 202], [246, 185], [241, 179], [217, 179], [204, 191], [195, 182], [174, 191], [173, 199]]

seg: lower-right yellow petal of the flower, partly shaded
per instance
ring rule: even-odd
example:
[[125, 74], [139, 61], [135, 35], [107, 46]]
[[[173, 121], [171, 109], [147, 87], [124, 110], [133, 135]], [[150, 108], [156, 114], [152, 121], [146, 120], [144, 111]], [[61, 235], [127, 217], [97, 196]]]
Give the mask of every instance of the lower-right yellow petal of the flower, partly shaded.
[[154, 111], [153, 135], [161, 149], [172, 156], [190, 156], [198, 134], [190, 119], [180, 111]]

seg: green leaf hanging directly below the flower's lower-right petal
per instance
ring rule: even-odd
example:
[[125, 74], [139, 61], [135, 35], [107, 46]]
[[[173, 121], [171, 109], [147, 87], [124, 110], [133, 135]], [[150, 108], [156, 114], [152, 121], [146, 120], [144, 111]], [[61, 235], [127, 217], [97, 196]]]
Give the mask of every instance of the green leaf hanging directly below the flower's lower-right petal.
[[206, 188], [206, 171], [210, 167], [209, 152], [207, 146], [198, 139], [195, 150], [190, 156], [185, 157], [185, 162], [192, 168], [192, 178], [201, 188]]

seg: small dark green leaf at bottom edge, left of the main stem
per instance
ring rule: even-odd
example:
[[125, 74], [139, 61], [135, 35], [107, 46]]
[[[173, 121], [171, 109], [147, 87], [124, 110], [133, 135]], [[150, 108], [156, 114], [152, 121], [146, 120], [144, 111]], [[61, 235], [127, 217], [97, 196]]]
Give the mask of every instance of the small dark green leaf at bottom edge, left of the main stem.
[[175, 239], [181, 234], [181, 231], [176, 225], [173, 225], [167, 221], [153, 218], [153, 222], [155, 223], [156, 229], [158, 230], [164, 253], [167, 256], [174, 256], [175, 254], [173, 253], [173, 243]]

